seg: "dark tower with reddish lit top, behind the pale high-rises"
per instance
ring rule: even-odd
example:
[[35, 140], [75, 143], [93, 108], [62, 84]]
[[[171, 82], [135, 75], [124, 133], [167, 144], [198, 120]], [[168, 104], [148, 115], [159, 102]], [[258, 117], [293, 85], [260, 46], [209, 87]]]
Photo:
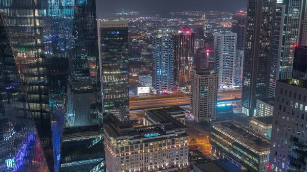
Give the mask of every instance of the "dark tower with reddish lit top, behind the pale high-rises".
[[246, 14], [236, 13], [232, 16], [231, 20], [231, 32], [237, 34], [237, 48], [245, 46], [246, 35]]

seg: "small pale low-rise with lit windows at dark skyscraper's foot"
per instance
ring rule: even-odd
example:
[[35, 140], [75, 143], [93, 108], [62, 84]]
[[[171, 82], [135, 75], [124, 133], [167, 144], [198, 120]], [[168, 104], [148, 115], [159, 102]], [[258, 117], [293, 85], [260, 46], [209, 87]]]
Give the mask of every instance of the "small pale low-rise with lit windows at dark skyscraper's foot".
[[271, 116], [274, 110], [274, 97], [257, 99], [255, 116]]

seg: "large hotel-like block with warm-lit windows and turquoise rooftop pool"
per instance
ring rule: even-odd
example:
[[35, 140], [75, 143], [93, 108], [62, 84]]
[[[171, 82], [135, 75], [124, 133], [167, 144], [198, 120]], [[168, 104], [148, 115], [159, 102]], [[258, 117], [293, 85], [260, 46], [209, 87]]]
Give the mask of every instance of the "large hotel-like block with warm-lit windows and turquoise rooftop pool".
[[188, 165], [187, 127], [169, 114], [147, 113], [143, 126], [113, 114], [104, 125], [106, 171], [176, 171]]

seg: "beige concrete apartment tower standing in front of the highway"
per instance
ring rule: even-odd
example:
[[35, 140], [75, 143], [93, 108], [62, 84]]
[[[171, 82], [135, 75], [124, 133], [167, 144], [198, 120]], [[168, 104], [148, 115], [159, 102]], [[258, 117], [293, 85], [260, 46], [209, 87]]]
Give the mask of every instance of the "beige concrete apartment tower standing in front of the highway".
[[211, 69], [191, 70], [191, 113], [196, 122], [216, 119], [217, 75]]

